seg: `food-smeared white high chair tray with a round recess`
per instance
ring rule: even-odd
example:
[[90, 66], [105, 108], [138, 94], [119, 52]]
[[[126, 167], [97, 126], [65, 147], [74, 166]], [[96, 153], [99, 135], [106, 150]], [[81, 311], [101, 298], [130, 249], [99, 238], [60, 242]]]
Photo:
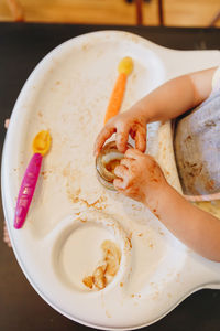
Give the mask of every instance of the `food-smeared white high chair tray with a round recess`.
[[[122, 110], [165, 81], [219, 65], [219, 51], [174, 51], [118, 31], [89, 33], [51, 52], [34, 70], [14, 106], [2, 159], [2, 197], [16, 259], [54, 309], [105, 330], [148, 325], [200, 288], [220, 288], [220, 264], [194, 254], [143, 205], [101, 186], [94, 142], [103, 125], [120, 60], [131, 56]], [[184, 97], [184, 96], [183, 96]], [[23, 228], [13, 227], [32, 140], [48, 129], [53, 143]], [[147, 152], [180, 191], [170, 122], [148, 126]], [[168, 206], [172, 207], [172, 206]], [[122, 252], [103, 290], [82, 284], [101, 258], [105, 239]]]

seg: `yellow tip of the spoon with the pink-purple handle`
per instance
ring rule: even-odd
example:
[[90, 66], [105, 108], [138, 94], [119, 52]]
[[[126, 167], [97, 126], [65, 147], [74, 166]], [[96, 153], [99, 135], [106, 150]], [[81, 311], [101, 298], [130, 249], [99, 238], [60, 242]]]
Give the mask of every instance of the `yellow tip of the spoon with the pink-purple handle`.
[[43, 157], [48, 152], [51, 148], [52, 137], [48, 131], [40, 131], [32, 143], [34, 153], [40, 153]]

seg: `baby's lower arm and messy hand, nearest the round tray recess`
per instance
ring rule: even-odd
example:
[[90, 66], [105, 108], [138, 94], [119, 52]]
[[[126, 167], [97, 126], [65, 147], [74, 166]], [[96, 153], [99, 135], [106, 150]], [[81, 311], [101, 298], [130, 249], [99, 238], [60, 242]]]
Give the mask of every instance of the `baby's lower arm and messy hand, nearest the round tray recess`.
[[195, 252], [220, 261], [220, 220], [194, 206], [174, 190], [152, 157], [129, 149], [114, 172], [119, 192], [145, 204]]

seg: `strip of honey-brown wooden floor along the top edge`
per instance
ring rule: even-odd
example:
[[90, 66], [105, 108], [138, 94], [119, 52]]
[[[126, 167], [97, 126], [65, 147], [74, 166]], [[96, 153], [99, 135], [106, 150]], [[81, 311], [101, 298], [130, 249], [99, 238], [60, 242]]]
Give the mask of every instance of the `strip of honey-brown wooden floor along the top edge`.
[[[20, 0], [28, 22], [135, 24], [135, 6], [125, 0]], [[219, 0], [164, 0], [168, 26], [208, 26]], [[13, 21], [6, 0], [0, 0], [0, 21]], [[158, 24], [157, 0], [143, 6], [144, 25]], [[220, 21], [217, 26], [220, 26]]]

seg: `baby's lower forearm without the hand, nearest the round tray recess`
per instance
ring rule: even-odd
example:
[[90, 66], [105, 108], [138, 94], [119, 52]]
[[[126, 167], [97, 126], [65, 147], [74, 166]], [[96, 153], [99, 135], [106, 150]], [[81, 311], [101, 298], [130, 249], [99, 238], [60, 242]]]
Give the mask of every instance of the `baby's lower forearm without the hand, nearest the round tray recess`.
[[153, 212], [183, 243], [204, 257], [220, 261], [220, 220], [186, 201], [167, 185]]

